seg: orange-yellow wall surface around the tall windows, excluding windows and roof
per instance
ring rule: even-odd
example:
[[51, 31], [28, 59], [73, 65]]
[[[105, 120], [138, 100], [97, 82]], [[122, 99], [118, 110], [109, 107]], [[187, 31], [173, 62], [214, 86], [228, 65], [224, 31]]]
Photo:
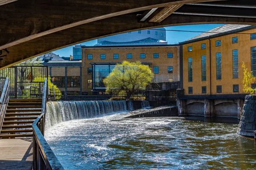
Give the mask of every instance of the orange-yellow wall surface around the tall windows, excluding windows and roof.
[[[256, 40], [250, 40], [250, 34], [256, 29], [229, 34], [210, 39], [211, 41], [211, 92], [216, 93], [216, 86], [222, 85], [222, 93], [233, 93], [233, 85], [239, 85], [239, 92], [243, 92], [242, 78], [244, 61], [250, 71], [250, 48], [256, 46]], [[238, 37], [238, 43], [232, 43], [232, 37]], [[221, 46], [216, 47], [215, 41], [221, 40]], [[206, 49], [201, 49], [201, 44], [206, 43]], [[188, 52], [188, 47], [192, 51]], [[233, 79], [233, 54], [232, 50], [238, 49], [239, 78]], [[221, 52], [221, 80], [216, 80], [216, 53]], [[207, 81], [201, 81], [201, 55], [206, 55]], [[188, 82], [188, 58], [192, 57], [193, 81]], [[210, 93], [210, 55], [209, 40], [202, 40], [183, 45], [183, 88], [188, 94], [188, 87], [193, 87], [193, 94], [201, 93], [201, 87], [207, 86]]]

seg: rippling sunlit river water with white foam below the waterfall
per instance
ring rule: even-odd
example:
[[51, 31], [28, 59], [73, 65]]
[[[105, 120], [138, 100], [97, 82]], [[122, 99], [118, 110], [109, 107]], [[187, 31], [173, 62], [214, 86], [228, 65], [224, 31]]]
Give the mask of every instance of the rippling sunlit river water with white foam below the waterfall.
[[[70, 109], [71, 105], [65, 107]], [[62, 120], [49, 127], [45, 137], [66, 170], [254, 170], [256, 167], [255, 141], [236, 135], [236, 119], [122, 119], [130, 113], [120, 110], [104, 114], [100, 111], [96, 118], [87, 111], [86, 119], [79, 117], [81, 110], [74, 111], [73, 116], [67, 111], [64, 116], [59, 115], [58, 119], [73, 120]], [[111, 111], [115, 111], [114, 107]]]

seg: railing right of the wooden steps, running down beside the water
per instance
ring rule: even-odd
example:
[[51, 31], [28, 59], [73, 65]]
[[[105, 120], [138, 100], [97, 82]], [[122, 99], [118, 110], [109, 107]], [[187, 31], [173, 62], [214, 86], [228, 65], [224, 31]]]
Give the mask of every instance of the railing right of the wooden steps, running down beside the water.
[[33, 122], [33, 169], [34, 170], [64, 170], [61, 163], [44, 139], [46, 103], [48, 94], [47, 78], [44, 80], [41, 115]]

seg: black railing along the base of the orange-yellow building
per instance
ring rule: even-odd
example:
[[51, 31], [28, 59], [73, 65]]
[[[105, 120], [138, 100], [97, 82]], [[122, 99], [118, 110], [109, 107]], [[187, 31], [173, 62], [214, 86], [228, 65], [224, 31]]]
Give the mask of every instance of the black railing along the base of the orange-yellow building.
[[178, 99], [244, 99], [247, 93], [177, 94]]

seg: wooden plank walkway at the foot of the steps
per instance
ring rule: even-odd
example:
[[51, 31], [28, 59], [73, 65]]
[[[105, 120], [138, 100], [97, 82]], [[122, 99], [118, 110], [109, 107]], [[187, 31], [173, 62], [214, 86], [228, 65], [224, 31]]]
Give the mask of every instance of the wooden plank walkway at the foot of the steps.
[[33, 139], [0, 139], [0, 170], [31, 170]]

